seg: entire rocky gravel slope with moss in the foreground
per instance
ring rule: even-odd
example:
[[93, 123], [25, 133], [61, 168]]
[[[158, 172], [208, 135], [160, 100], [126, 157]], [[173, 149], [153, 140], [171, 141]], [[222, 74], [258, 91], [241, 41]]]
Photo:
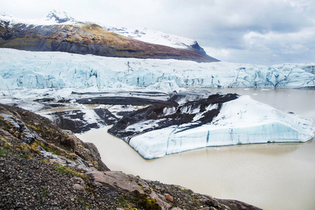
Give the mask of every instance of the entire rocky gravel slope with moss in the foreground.
[[259, 209], [110, 171], [97, 148], [0, 104], [0, 209]]

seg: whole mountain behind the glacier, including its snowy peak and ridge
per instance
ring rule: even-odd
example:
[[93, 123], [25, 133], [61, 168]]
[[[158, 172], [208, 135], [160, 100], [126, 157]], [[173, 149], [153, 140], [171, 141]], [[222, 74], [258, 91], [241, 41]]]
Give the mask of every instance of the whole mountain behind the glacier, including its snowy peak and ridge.
[[[200, 45], [191, 39], [149, 29], [142, 29], [139, 33], [137, 31], [139, 30], [134, 29], [128, 32], [125, 28], [114, 29], [92, 22], [78, 22], [66, 13], [55, 10], [41, 20], [20, 20], [2, 14], [0, 48], [72, 52], [106, 57], [218, 61], [207, 55]], [[137, 33], [138, 36], [135, 36]]]

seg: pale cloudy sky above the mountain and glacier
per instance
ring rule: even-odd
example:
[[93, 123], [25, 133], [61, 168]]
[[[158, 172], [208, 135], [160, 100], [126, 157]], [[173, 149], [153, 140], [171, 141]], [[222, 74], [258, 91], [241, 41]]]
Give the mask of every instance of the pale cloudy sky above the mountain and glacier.
[[0, 1], [0, 12], [16, 18], [43, 18], [52, 9], [76, 20], [193, 38], [226, 62], [315, 62], [314, 0]]

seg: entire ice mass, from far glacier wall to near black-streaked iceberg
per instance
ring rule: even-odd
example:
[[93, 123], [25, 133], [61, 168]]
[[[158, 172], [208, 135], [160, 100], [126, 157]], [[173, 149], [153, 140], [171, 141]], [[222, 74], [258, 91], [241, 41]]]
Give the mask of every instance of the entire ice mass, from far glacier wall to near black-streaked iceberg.
[[32, 111], [64, 107], [41, 115], [78, 133], [115, 123], [109, 132], [146, 159], [207, 146], [308, 141], [313, 120], [248, 96], [183, 87], [314, 88], [314, 75], [315, 63], [258, 66], [0, 48], [1, 103]]

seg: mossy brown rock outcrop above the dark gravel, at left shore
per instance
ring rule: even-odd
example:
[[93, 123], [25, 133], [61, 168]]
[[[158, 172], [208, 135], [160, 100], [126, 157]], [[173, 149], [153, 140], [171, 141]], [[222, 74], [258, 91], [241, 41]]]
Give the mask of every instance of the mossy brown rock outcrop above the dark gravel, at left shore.
[[31, 111], [0, 104], [0, 129], [6, 136], [20, 139], [26, 144], [37, 145], [38, 152], [43, 150], [55, 155], [68, 156], [72, 161], [76, 160], [86, 167], [109, 171], [102, 162], [96, 146], [83, 143], [71, 131], [61, 130], [48, 118]]

